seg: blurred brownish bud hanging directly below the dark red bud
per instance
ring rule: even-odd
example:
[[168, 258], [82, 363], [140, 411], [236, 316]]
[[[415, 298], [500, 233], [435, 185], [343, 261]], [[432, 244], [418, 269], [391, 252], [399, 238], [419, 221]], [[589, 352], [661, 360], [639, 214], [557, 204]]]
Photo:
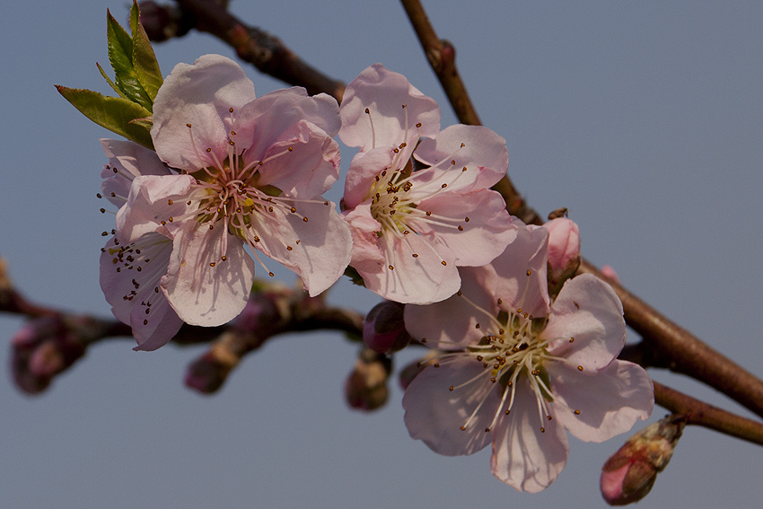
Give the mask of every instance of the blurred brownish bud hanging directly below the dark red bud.
[[392, 371], [392, 361], [383, 354], [364, 348], [358, 355], [355, 369], [345, 381], [345, 398], [351, 408], [375, 410], [387, 402], [390, 391], [387, 379]]

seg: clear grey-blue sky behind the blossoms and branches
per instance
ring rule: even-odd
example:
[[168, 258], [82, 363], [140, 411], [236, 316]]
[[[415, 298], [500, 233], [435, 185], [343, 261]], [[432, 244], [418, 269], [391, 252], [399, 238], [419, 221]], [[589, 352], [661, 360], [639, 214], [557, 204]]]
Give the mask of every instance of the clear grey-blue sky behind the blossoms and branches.
[[[124, 21], [126, 4], [12, 2], [0, 17], [0, 254], [32, 299], [102, 315], [97, 262], [112, 216], [95, 193], [98, 138], [110, 135], [53, 85], [109, 92], [95, 62], [108, 64], [106, 9]], [[568, 207], [587, 258], [763, 375], [763, 4], [472, 4], [425, 2], [531, 206]], [[443, 126], [455, 122], [398, 2], [278, 5], [233, 0], [232, 12], [346, 82], [382, 62], [441, 102]], [[204, 53], [232, 56], [197, 33], [156, 52], [165, 75]], [[259, 93], [283, 86], [248, 73]], [[375, 302], [346, 284], [332, 299], [362, 311]], [[0, 335], [21, 324], [0, 317]], [[203, 349], [131, 347], [92, 348], [37, 398], [0, 379], [0, 507], [601, 507], [601, 464], [621, 444], [573, 439], [557, 482], [518, 494], [490, 474], [489, 452], [444, 458], [412, 441], [397, 387], [379, 412], [346, 409], [355, 347], [339, 335], [273, 340], [208, 398], [182, 385]], [[638, 507], [754, 506], [761, 470], [760, 447], [690, 428]]]

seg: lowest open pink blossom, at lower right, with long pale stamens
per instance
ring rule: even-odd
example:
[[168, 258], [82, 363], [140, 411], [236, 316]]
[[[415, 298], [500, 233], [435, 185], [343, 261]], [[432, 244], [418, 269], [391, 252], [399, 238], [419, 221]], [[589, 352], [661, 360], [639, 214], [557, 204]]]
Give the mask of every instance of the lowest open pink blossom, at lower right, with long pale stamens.
[[653, 408], [645, 370], [616, 358], [617, 294], [583, 274], [550, 302], [547, 260], [548, 230], [522, 225], [491, 265], [460, 269], [459, 294], [405, 312], [414, 338], [444, 350], [408, 386], [408, 432], [445, 455], [492, 443], [493, 474], [529, 492], [564, 469], [565, 431], [602, 442]]

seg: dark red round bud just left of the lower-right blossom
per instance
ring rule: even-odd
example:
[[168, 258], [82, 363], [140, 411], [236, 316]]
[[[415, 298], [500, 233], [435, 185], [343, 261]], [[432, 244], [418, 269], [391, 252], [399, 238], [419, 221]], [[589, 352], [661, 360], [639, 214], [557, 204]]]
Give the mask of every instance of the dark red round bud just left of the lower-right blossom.
[[403, 320], [405, 304], [383, 301], [365, 316], [363, 341], [374, 352], [397, 352], [408, 347], [411, 337]]

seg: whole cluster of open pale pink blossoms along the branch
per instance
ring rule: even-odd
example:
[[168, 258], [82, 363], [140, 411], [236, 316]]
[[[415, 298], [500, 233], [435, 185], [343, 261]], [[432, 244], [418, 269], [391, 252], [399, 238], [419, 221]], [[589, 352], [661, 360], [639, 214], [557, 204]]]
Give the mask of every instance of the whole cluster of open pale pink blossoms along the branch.
[[[441, 131], [436, 102], [403, 75], [370, 66], [339, 107], [301, 88], [256, 97], [240, 66], [207, 55], [164, 81], [151, 136], [155, 152], [102, 141], [102, 192], [119, 209], [101, 287], [136, 349], [162, 347], [184, 322], [235, 318], [256, 265], [272, 276], [261, 252], [311, 295], [350, 266], [396, 303], [390, 316], [408, 332], [382, 342], [439, 352], [403, 399], [410, 434], [449, 455], [493, 443], [493, 472], [517, 489], [557, 478], [565, 430], [601, 441], [650, 414], [645, 371], [616, 358], [617, 295], [594, 276], [570, 279], [576, 226], [510, 216], [490, 189], [508, 166], [505, 140]], [[339, 177], [335, 136], [359, 149], [341, 212], [322, 196]], [[549, 247], [549, 231], [564, 242]]]

